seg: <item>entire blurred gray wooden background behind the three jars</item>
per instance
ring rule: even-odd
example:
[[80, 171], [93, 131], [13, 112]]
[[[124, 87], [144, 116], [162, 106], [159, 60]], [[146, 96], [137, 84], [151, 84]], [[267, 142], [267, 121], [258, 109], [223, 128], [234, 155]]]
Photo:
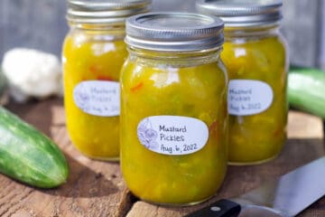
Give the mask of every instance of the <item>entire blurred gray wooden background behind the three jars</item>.
[[[283, 34], [294, 64], [325, 68], [325, 0], [283, 0]], [[194, 0], [153, 0], [153, 11], [194, 12]], [[323, 13], [324, 12], [324, 13]], [[60, 57], [69, 27], [65, 0], [0, 0], [0, 61], [27, 47]]]

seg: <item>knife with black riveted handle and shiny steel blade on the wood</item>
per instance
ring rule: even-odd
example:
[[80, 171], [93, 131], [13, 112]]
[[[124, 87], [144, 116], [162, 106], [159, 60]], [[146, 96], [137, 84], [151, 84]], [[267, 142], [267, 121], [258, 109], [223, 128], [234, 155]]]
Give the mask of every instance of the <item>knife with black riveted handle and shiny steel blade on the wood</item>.
[[185, 217], [292, 217], [325, 195], [325, 156]]

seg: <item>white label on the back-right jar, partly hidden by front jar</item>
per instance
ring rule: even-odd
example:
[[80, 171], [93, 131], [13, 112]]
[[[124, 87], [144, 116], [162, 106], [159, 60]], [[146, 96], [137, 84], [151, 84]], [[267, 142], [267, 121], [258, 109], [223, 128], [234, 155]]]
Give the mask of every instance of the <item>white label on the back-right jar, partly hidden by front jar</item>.
[[274, 99], [269, 84], [260, 80], [230, 80], [228, 85], [228, 113], [247, 116], [268, 109]]

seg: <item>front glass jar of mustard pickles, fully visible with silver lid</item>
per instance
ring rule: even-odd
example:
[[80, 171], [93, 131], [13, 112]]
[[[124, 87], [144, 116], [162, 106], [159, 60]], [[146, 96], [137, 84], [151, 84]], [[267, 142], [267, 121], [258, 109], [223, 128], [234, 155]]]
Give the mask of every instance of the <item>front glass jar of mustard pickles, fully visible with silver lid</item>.
[[223, 23], [200, 14], [141, 14], [127, 19], [125, 42], [125, 182], [144, 201], [200, 203], [217, 192], [227, 167]]

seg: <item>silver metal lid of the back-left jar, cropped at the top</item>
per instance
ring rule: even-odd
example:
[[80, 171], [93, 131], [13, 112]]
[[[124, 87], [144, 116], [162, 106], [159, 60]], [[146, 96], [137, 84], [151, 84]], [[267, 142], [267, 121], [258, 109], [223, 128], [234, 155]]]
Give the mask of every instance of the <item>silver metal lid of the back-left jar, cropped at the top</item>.
[[68, 0], [67, 19], [79, 24], [124, 24], [149, 11], [151, 0]]

